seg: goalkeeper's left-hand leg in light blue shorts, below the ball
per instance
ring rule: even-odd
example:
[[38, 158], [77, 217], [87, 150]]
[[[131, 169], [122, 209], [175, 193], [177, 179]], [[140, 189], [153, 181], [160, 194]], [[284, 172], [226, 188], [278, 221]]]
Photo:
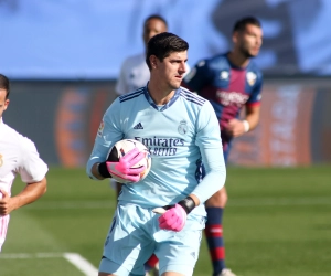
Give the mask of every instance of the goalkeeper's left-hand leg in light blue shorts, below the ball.
[[145, 275], [143, 264], [154, 250], [154, 241], [145, 229], [152, 217], [150, 213], [134, 204], [117, 205], [104, 245], [99, 276]]

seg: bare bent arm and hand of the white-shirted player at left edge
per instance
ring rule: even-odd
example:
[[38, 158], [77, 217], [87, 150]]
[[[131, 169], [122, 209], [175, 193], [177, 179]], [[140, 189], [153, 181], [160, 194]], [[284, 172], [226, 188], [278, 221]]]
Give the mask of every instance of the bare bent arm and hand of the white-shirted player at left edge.
[[0, 215], [7, 215], [13, 210], [38, 200], [46, 192], [46, 178], [38, 182], [26, 183], [25, 188], [12, 198], [4, 190], [0, 190], [2, 193], [2, 199], [0, 199]]

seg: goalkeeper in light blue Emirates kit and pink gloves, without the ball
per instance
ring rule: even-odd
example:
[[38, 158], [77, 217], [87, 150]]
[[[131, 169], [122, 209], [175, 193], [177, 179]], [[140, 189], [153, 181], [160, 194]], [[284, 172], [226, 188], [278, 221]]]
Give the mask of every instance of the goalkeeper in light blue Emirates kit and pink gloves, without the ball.
[[[151, 38], [146, 57], [150, 82], [118, 97], [104, 115], [87, 173], [99, 180], [121, 176], [136, 183], [122, 185], [99, 276], [143, 275], [152, 253], [160, 261], [160, 275], [193, 274], [205, 224], [203, 203], [223, 187], [226, 170], [212, 105], [180, 87], [188, 49], [172, 33]], [[139, 182], [145, 168], [132, 168], [143, 158], [139, 151], [107, 161], [109, 149], [124, 138], [142, 141], [151, 152], [151, 170]], [[201, 181], [202, 161], [206, 174]]]

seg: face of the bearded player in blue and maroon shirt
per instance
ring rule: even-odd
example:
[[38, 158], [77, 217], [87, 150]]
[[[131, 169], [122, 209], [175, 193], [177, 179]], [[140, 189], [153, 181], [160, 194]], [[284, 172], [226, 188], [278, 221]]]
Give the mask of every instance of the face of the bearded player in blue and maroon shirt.
[[234, 42], [245, 57], [257, 56], [263, 44], [263, 30], [257, 25], [247, 24], [244, 31], [234, 33]]

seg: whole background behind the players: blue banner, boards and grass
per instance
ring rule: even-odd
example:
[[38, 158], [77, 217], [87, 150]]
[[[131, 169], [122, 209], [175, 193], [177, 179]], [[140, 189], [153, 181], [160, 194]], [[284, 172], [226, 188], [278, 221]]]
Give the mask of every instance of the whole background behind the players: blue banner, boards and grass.
[[[97, 275], [116, 198], [84, 166], [151, 13], [189, 41], [191, 66], [229, 47], [237, 18], [261, 20], [261, 120], [229, 157], [227, 265], [244, 276], [329, 276], [329, 0], [0, 0], [0, 72], [12, 82], [3, 119], [50, 164], [47, 193], [12, 212], [0, 275]], [[23, 187], [17, 178], [12, 193]], [[211, 269], [203, 240], [194, 276]]]

